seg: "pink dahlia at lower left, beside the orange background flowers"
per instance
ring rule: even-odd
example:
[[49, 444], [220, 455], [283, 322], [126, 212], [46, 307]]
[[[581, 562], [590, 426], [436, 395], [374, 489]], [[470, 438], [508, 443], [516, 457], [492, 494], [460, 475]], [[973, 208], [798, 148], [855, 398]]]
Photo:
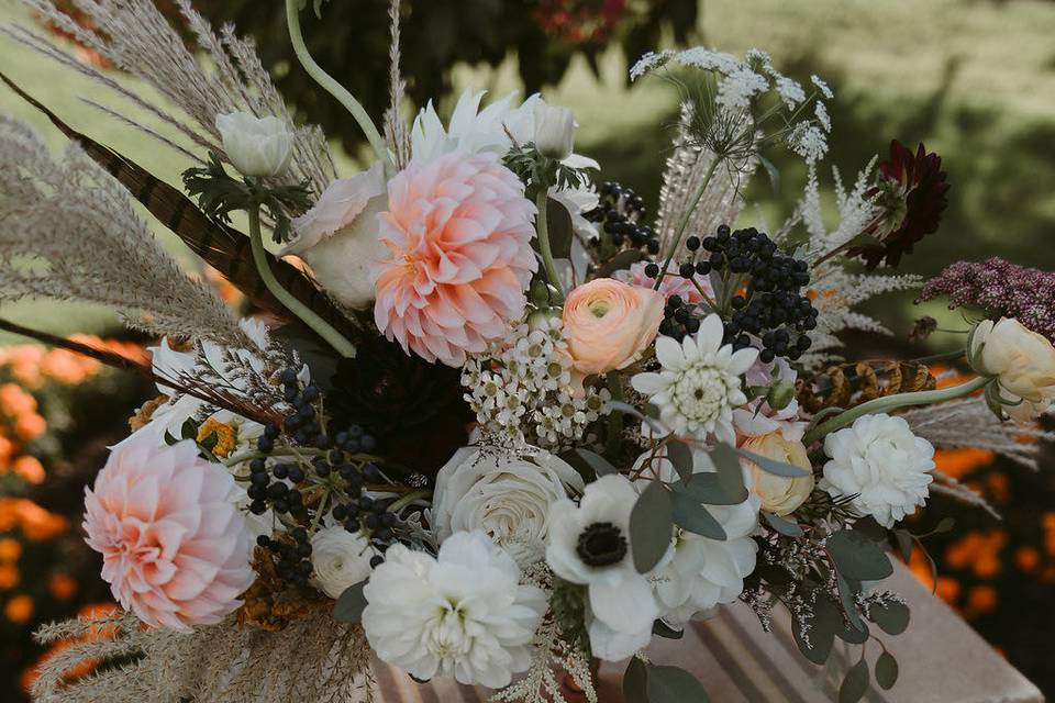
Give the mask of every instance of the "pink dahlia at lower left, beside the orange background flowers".
[[84, 526], [122, 606], [148, 625], [190, 632], [240, 605], [254, 574], [249, 532], [227, 501], [233, 486], [193, 442], [158, 447], [133, 436], [114, 447], [85, 490]]

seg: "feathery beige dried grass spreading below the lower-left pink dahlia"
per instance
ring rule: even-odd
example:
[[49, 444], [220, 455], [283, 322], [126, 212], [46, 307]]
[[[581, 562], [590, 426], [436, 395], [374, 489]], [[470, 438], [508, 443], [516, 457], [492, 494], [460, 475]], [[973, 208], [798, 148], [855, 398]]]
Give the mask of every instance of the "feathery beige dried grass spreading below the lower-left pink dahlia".
[[[116, 612], [45, 625], [43, 644], [69, 641], [33, 684], [40, 703], [363, 703], [373, 701], [369, 645], [362, 628], [314, 609], [279, 632], [240, 627], [234, 617], [186, 635], [143, 628]], [[73, 681], [70, 670], [93, 663]]]

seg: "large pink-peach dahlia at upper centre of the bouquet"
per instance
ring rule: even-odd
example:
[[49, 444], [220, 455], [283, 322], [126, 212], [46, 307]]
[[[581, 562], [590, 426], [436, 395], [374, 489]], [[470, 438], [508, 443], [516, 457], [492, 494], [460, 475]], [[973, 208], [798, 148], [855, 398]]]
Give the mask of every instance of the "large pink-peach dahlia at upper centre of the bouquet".
[[538, 267], [535, 207], [497, 155], [453, 152], [411, 163], [388, 182], [370, 271], [374, 319], [389, 339], [429, 361], [459, 366], [524, 312]]

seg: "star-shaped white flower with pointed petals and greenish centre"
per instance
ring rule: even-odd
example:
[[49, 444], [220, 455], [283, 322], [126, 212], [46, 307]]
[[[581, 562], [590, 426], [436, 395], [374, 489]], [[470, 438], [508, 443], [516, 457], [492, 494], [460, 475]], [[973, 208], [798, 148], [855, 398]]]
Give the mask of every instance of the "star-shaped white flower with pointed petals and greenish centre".
[[733, 409], [747, 402], [740, 376], [755, 362], [758, 350], [733, 352], [731, 345], [722, 346], [722, 320], [712, 314], [680, 345], [670, 337], [658, 337], [656, 358], [663, 370], [631, 379], [676, 434], [700, 439], [714, 434], [722, 442], [735, 440]]

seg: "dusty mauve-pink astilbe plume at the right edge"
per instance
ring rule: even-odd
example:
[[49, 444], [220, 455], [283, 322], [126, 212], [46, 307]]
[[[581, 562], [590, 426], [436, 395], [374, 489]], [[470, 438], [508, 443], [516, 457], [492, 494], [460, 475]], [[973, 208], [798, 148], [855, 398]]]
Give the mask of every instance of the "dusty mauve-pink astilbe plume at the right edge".
[[1015, 317], [1055, 344], [1055, 274], [999, 257], [957, 261], [928, 281], [917, 302], [948, 297], [948, 306], [981, 308], [989, 317]]

